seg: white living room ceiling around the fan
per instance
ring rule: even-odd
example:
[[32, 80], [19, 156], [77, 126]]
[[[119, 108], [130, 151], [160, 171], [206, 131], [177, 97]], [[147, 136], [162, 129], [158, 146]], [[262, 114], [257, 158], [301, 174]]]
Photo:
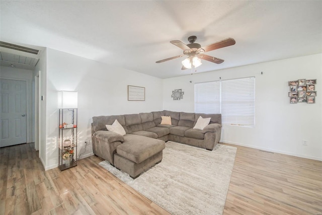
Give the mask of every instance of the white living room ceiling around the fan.
[[170, 40], [205, 46], [193, 73], [322, 52], [322, 1], [1, 1], [1, 41], [44, 46], [159, 78], [190, 74]]

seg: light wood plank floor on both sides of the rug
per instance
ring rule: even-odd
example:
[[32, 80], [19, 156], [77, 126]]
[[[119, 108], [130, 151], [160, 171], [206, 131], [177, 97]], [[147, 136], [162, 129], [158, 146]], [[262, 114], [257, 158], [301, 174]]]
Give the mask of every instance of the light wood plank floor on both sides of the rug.
[[[223, 214], [322, 214], [322, 162], [237, 147]], [[0, 149], [0, 214], [169, 214], [91, 156], [44, 171], [34, 144]]]

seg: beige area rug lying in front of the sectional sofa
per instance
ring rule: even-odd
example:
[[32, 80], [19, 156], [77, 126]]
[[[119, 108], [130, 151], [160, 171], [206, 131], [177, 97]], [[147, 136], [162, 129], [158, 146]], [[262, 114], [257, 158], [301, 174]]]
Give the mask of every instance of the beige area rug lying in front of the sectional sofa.
[[208, 151], [168, 141], [162, 162], [136, 179], [108, 161], [100, 165], [172, 214], [222, 214], [235, 155], [235, 147]]

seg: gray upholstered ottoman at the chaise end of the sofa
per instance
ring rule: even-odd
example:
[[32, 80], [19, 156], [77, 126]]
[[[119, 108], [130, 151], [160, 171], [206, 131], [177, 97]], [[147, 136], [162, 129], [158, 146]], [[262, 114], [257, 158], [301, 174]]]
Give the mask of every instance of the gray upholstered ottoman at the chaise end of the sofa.
[[162, 151], [166, 148], [165, 141], [135, 134], [128, 134], [124, 138], [123, 144], [116, 148], [114, 165], [132, 178], [138, 177], [162, 160]]

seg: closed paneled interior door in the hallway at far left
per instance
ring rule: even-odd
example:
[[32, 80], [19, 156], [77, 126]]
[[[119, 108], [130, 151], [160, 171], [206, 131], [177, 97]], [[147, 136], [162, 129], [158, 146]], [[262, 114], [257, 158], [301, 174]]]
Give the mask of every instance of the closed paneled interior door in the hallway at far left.
[[26, 81], [1, 79], [0, 147], [27, 142]]

